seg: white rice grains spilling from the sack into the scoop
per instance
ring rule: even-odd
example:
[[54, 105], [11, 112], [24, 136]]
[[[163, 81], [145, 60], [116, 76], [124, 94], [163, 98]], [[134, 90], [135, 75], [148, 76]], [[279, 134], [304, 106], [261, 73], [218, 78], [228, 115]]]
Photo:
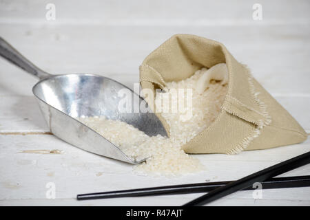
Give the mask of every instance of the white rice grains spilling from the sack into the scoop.
[[[179, 82], [167, 83], [165, 93], [156, 92], [155, 104], [159, 104], [164, 94], [172, 89], [192, 89], [192, 118], [182, 120], [180, 113], [161, 113], [170, 126], [170, 137], [157, 135], [149, 137], [143, 131], [121, 121], [100, 117], [78, 118], [90, 126], [107, 140], [121, 148], [132, 159], [149, 157], [142, 164], [134, 167], [139, 174], [150, 175], [182, 175], [203, 170], [199, 160], [183, 151], [181, 146], [198, 135], [216, 119], [227, 94], [227, 85], [211, 82], [203, 94], [196, 91], [196, 83], [202, 73], [197, 71], [192, 77]], [[184, 97], [178, 97], [172, 102], [179, 102]], [[186, 103], [186, 102], [185, 102]], [[182, 113], [184, 115], [184, 113]]]

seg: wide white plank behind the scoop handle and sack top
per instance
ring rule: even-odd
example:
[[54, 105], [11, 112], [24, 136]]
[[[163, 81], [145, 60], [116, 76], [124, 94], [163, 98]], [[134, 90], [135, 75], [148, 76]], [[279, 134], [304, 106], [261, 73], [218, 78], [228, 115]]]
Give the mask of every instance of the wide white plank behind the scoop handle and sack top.
[[[99, 28], [0, 24], [0, 29], [5, 39], [47, 72], [112, 78], [123, 74], [135, 82], [138, 66], [158, 45], [175, 33], [197, 34], [224, 43], [271, 94], [310, 94], [308, 25]], [[35, 78], [2, 59], [0, 65], [0, 95], [31, 94]]]

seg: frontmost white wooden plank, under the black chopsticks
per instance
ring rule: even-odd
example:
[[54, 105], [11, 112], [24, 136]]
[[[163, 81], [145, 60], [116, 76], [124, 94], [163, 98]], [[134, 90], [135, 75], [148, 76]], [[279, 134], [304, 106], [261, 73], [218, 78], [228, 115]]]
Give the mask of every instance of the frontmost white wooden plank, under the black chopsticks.
[[[70, 199], [69, 204], [74, 203], [74, 198], [78, 193], [185, 184], [203, 182], [206, 179], [209, 181], [238, 179], [309, 151], [310, 142], [307, 140], [303, 144], [266, 151], [242, 152], [236, 156], [195, 155], [203, 162], [207, 170], [174, 178], [136, 175], [132, 172], [130, 164], [87, 153], [58, 140], [52, 135], [0, 135], [0, 149], [0, 200], [3, 205], [14, 204], [16, 199], [25, 199], [24, 201], [30, 201], [30, 199], [34, 199], [34, 201], [36, 199], [37, 201], [45, 200], [47, 190], [45, 186], [48, 182], [55, 184], [56, 198]], [[19, 153], [25, 150], [52, 149], [58, 149], [63, 153]], [[307, 175], [309, 172], [310, 166], [303, 166], [286, 175]], [[304, 201], [300, 204], [309, 204], [309, 190], [309, 188], [303, 188], [282, 191], [285, 193], [268, 191], [264, 196], [268, 199], [279, 199], [278, 204], [281, 204], [281, 200], [299, 200]], [[252, 198], [251, 192], [240, 193], [231, 195], [231, 197]], [[169, 199], [170, 205], [174, 203], [178, 205], [186, 199], [194, 199], [197, 195], [165, 196], [161, 199], [165, 200], [166, 197], [174, 198]], [[115, 200], [114, 205], [125, 205], [128, 201], [126, 199], [112, 200]], [[100, 204], [108, 205], [111, 204], [112, 200], [106, 200]], [[156, 205], [152, 197], [137, 199], [136, 203], [130, 203], [130, 205], [143, 205], [143, 201], [147, 201], [149, 205]], [[159, 201], [161, 200], [158, 200], [158, 203]], [[46, 201], [45, 203], [52, 202]]]

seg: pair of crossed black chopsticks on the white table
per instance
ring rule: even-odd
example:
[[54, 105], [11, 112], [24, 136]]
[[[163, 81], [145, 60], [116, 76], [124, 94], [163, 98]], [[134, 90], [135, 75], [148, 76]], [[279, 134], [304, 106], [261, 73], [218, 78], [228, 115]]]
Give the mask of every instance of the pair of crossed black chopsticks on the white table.
[[293, 157], [285, 162], [276, 164], [257, 173], [244, 177], [236, 181], [218, 181], [200, 184], [183, 184], [175, 186], [161, 186], [153, 188], [140, 188], [133, 190], [119, 190], [112, 192], [96, 192], [77, 195], [78, 200], [86, 199], [107, 199], [116, 197], [139, 197], [150, 195], [172, 195], [185, 193], [209, 192], [207, 195], [198, 197], [185, 206], [201, 206], [210, 201], [214, 201], [225, 195], [229, 195], [238, 190], [253, 190], [253, 184], [260, 182], [263, 189], [270, 188], [296, 188], [310, 186], [310, 175], [298, 177], [278, 177], [276, 175], [286, 173], [289, 170], [304, 166], [310, 163], [310, 152], [298, 157]]

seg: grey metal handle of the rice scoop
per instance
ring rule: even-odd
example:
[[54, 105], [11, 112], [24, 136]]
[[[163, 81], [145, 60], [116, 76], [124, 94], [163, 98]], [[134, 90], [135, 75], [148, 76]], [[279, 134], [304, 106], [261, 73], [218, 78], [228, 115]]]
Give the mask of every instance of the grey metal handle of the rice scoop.
[[44, 72], [43, 70], [36, 67], [33, 63], [28, 61], [28, 59], [25, 58], [25, 56], [21, 55], [14, 47], [12, 47], [12, 45], [10, 45], [10, 43], [6, 42], [1, 37], [0, 37], [0, 55], [3, 58], [6, 58], [6, 60], [13, 63], [14, 65], [17, 65], [17, 67], [20, 67], [21, 69], [25, 70], [25, 72], [28, 72], [33, 76], [37, 76], [37, 78], [39, 78], [40, 80], [52, 76], [51, 74]]

